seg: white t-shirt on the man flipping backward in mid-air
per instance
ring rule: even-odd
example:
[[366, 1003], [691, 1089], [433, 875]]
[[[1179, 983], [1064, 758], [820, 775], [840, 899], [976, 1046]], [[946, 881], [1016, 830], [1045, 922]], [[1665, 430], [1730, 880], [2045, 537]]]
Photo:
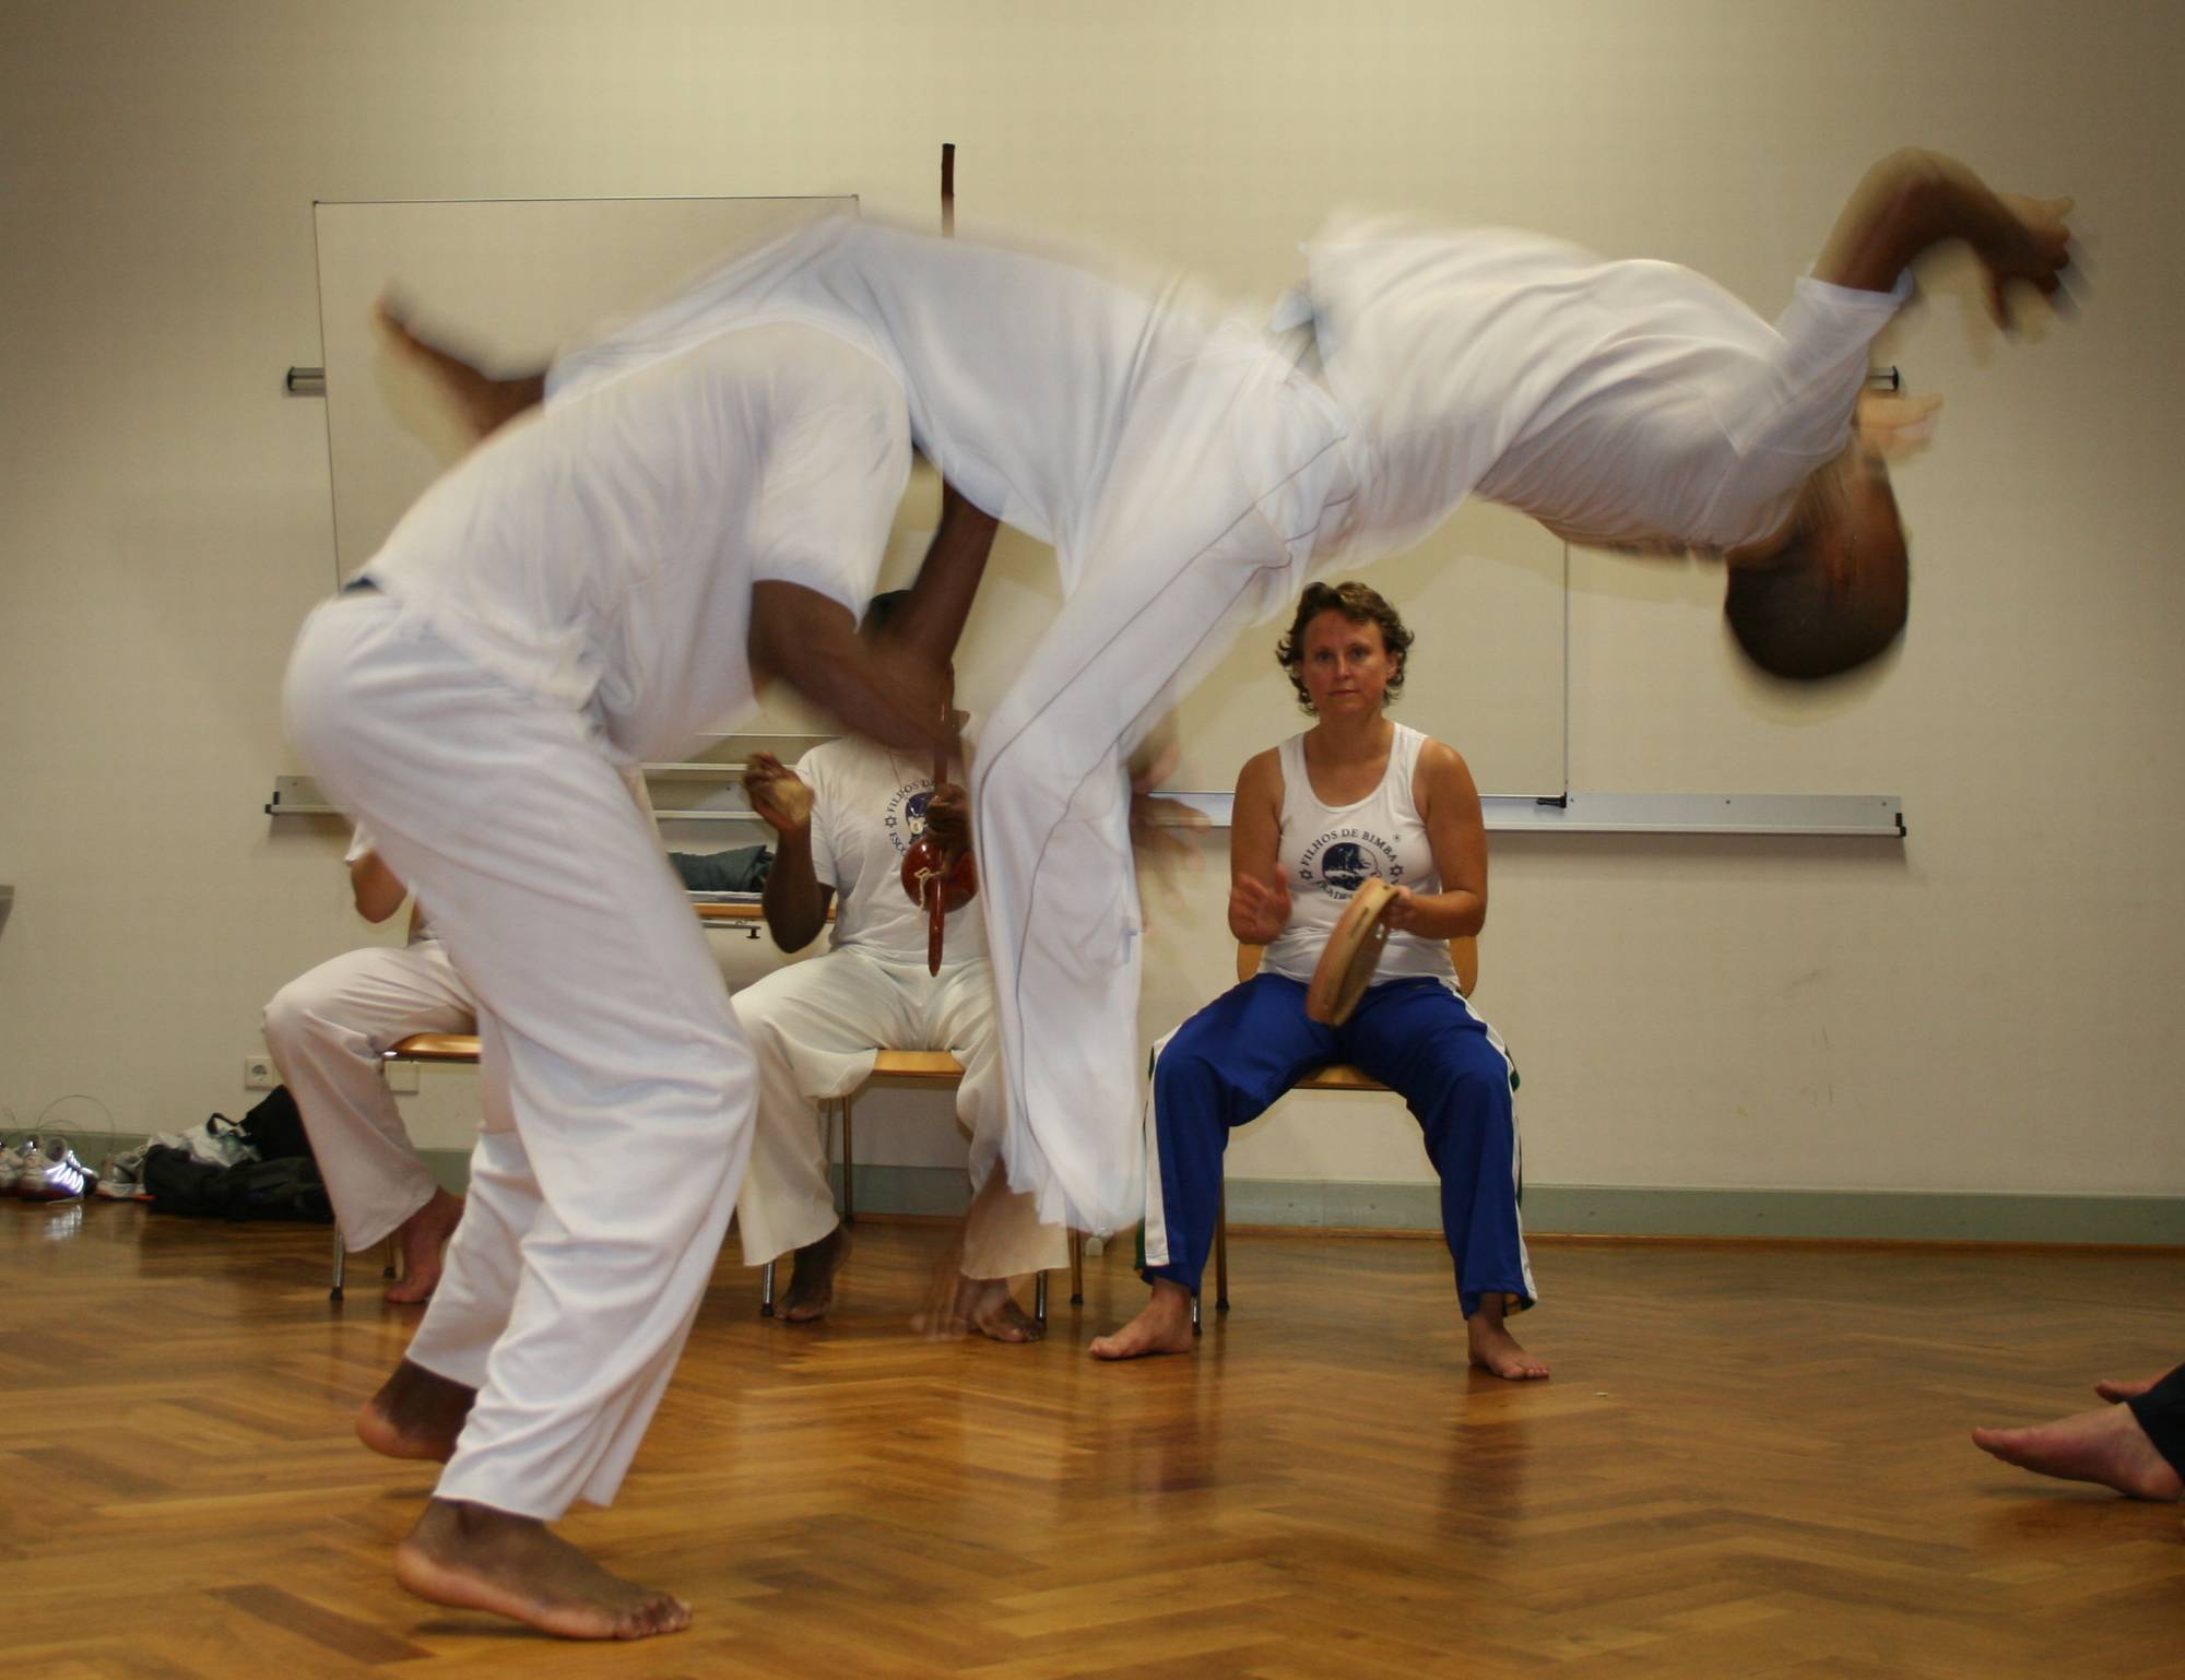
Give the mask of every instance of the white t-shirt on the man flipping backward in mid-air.
[[1691, 269], [1510, 229], [1350, 221], [1304, 249], [1370, 553], [1473, 492], [1575, 542], [1757, 542], [1844, 448], [1868, 343], [1910, 295], [1910, 275], [1800, 280], [1768, 326]]

